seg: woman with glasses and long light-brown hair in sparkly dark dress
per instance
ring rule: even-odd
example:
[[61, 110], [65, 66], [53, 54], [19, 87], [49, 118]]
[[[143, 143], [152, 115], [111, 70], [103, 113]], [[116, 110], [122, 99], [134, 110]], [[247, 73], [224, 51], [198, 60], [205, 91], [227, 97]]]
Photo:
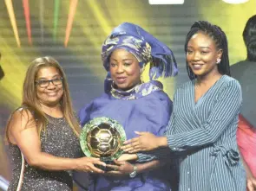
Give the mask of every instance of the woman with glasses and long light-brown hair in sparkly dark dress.
[[95, 171], [98, 159], [81, 157], [79, 124], [62, 67], [50, 57], [34, 60], [23, 83], [23, 103], [6, 128], [13, 163], [10, 191], [71, 191], [69, 170]]

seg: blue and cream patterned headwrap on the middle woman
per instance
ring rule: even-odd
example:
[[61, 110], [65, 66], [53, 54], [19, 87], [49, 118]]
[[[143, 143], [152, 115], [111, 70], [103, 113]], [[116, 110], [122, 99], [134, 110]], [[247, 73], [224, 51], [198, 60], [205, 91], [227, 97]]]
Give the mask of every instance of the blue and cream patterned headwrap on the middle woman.
[[102, 61], [107, 71], [109, 71], [108, 57], [117, 48], [126, 49], [134, 54], [140, 67], [151, 62], [153, 67], [149, 70], [150, 80], [158, 79], [161, 76], [165, 78], [175, 76], [178, 73], [177, 63], [170, 48], [135, 24], [121, 23], [104, 41]]

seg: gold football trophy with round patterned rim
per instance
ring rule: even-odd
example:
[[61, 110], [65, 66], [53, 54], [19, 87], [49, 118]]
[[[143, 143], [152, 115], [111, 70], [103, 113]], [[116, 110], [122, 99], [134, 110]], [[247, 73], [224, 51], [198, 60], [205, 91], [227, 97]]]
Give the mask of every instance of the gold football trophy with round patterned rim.
[[[126, 134], [116, 120], [112, 118], [93, 118], [82, 128], [80, 145], [86, 156], [98, 157], [102, 162], [113, 164], [113, 160], [122, 154], [120, 149], [126, 140]], [[105, 171], [113, 170], [97, 166]]]

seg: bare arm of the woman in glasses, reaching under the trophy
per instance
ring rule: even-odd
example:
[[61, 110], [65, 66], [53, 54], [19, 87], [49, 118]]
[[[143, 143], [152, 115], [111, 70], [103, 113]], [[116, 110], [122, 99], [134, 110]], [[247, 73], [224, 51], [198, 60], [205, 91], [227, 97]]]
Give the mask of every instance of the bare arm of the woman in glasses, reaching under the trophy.
[[10, 137], [10, 143], [19, 147], [30, 166], [49, 170], [75, 169], [102, 173], [102, 170], [96, 169], [94, 164], [105, 165], [104, 162], [96, 158], [63, 158], [42, 152], [36, 122], [30, 111], [15, 111], [10, 119], [7, 133]]

